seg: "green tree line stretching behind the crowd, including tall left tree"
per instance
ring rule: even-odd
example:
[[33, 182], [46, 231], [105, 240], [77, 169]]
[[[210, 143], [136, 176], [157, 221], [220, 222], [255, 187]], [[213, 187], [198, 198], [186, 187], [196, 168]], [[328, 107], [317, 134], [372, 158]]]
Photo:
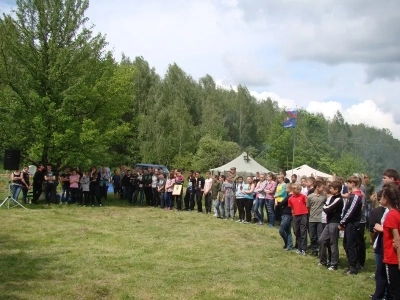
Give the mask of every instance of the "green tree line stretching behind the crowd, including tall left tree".
[[268, 169], [308, 164], [347, 176], [400, 168], [388, 129], [350, 125], [337, 112], [284, 109], [246, 86], [194, 79], [176, 63], [160, 75], [141, 56], [107, 51], [85, 17], [89, 1], [18, 0], [0, 17], [0, 145], [57, 167], [147, 162], [206, 170], [247, 151]]

